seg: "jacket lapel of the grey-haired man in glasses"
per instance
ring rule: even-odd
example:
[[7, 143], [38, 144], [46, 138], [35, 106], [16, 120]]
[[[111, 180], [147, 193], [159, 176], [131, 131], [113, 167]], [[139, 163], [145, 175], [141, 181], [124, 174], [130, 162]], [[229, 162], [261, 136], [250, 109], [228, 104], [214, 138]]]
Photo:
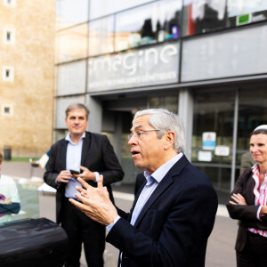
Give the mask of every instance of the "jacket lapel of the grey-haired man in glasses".
[[[182, 156], [182, 158], [180, 158], [180, 160], [178, 160], [178, 162], [176, 162], [174, 164], [174, 166], [168, 171], [168, 173], [161, 180], [161, 182], [159, 182], [158, 187], [156, 188], [156, 190], [154, 190], [154, 192], [152, 193], [152, 195], [150, 196], [150, 198], [148, 199], [146, 204], [143, 206], [141, 213], [139, 214], [138, 218], [136, 219], [136, 222], [134, 223], [134, 227], [136, 227], [138, 225], [138, 223], [141, 222], [143, 216], [147, 213], [147, 211], [149, 210], [150, 206], [153, 205], [153, 203], [160, 197], [160, 195], [169, 186], [171, 186], [171, 184], [174, 182], [174, 176], [180, 174], [182, 169], [183, 169], [183, 167], [187, 163], [188, 163], [187, 158], [185, 158], [185, 156]], [[137, 201], [137, 198], [134, 199], [134, 206], [136, 204], [136, 201]], [[134, 208], [132, 209], [132, 212], [133, 211], [134, 211]], [[131, 216], [132, 216], [132, 214], [131, 214]]]

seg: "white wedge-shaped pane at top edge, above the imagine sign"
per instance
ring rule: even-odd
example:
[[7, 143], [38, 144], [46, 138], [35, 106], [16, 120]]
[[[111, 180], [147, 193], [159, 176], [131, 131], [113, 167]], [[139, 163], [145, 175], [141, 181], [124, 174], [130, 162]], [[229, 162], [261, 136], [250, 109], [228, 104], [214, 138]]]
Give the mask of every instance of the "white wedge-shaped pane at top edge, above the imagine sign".
[[100, 18], [111, 13], [119, 12], [127, 8], [151, 2], [151, 0], [91, 0], [90, 20]]

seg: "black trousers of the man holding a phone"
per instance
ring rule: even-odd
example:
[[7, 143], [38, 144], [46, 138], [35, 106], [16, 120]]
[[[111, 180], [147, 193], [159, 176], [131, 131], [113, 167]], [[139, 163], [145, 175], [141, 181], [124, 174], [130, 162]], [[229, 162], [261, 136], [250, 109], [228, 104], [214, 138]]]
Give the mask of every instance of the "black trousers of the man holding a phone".
[[80, 266], [82, 243], [89, 267], [103, 266], [105, 249], [105, 226], [95, 223], [65, 198], [62, 203], [61, 225], [68, 235], [66, 267]]

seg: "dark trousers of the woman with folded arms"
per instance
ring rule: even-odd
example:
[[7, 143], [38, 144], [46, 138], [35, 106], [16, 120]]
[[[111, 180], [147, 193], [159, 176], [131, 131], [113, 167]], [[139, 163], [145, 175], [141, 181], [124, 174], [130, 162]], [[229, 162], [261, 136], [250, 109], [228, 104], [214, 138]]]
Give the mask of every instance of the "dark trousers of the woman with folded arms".
[[238, 267], [267, 266], [267, 238], [247, 232], [246, 246], [241, 252], [237, 251]]

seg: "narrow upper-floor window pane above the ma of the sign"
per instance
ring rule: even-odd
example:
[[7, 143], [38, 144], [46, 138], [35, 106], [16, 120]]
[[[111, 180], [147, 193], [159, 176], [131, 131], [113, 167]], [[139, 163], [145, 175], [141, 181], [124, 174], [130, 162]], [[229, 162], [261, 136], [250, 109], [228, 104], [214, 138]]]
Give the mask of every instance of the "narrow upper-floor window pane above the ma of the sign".
[[89, 25], [89, 55], [114, 52], [114, 16], [93, 20]]

